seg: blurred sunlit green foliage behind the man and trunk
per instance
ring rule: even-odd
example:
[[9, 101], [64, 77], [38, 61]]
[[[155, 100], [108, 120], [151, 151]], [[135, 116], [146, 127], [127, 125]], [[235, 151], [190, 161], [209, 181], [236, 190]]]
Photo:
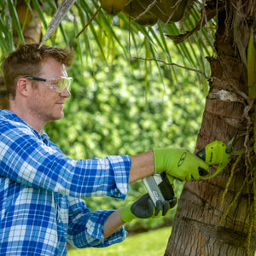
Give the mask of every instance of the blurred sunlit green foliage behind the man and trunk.
[[[67, 27], [67, 26], [66, 26]], [[101, 30], [95, 26], [95, 32]], [[119, 40], [128, 47], [128, 32], [114, 27]], [[69, 32], [67, 32], [68, 34]], [[70, 33], [72, 34], [72, 28]], [[138, 37], [137, 44], [143, 44]], [[142, 60], [125, 61], [120, 47], [104, 48], [115, 51], [115, 58], [102, 59], [97, 43], [90, 42], [92, 58], [86, 63], [79, 57], [68, 73], [73, 76], [72, 97], [66, 102], [65, 118], [45, 126], [45, 131], [61, 150], [73, 159], [106, 157], [109, 154], [138, 154], [156, 147], [173, 146], [193, 151], [205, 96], [199, 84], [198, 74], [173, 67], [177, 83], [172, 84], [172, 73], [163, 63], [148, 65]], [[77, 50], [77, 45], [73, 44]], [[171, 41], [172, 61], [182, 60]], [[131, 52], [136, 49], [131, 45]], [[158, 50], [158, 49], [156, 49]], [[139, 55], [145, 55], [141, 48]], [[160, 77], [159, 68], [163, 73]], [[148, 87], [146, 90], [145, 73]], [[176, 195], [183, 188], [177, 183]], [[146, 193], [143, 183], [130, 186], [125, 201], [113, 198], [85, 199], [96, 209], [118, 209]], [[127, 224], [127, 230], [148, 230], [164, 224], [172, 224], [175, 209], [166, 218], [135, 220]]]

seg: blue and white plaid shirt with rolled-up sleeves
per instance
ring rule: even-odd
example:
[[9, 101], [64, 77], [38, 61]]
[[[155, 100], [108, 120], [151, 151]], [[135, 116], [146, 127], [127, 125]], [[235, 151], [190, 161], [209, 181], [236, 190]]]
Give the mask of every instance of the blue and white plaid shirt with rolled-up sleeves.
[[123, 241], [124, 228], [103, 238], [113, 211], [90, 212], [80, 198], [125, 199], [130, 167], [128, 155], [72, 160], [44, 132], [0, 110], [0, 255], [66, 255], [67, 240], [76, 247]]

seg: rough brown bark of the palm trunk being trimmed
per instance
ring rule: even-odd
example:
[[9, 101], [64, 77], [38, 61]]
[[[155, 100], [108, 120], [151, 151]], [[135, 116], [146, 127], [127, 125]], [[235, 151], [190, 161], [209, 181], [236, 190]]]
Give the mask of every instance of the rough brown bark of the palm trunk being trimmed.
[[[226, 7], [226, 11], [228, 10]], [[248, 131], [247, 122], [250, 113], [247, 114], [247, 119], [244, 115], [245, 108], [248, 108], [246, 73], [234, 47], [234, 27], [229, 21], [232, 21], [230, 15], [218, 14], [215, 42], [218, 57], [208, 58], [214, 79], [210, 82], [195, 151], [214, 140], [228, 143], [236, 132], [240, 136], [236, 149], [240, 149], [245, 142], [245, 134], [251, 132]], [[253, 137], [252, 134], [250, 136]], [[235, 160], [236, 157], [232, 157], [230, 165], [216, 177], [184, 184], [166, 256], [254, 255], [255, 226], [250, 242], [247, 240], [253, 224], [253, 184], [244, 182], [248, 171], [244, 158], [236, 166], [236, 172], [224, 196], [224, 204], [221, 204]], [[211, 172], [215, 169], [212, 167]], [[243, 183], [246, 185], [236, 198]], [[224, 218], [224, 212], [232, 201], [234, 204]], [[221, 219], [223, 221], [219, 224]]]

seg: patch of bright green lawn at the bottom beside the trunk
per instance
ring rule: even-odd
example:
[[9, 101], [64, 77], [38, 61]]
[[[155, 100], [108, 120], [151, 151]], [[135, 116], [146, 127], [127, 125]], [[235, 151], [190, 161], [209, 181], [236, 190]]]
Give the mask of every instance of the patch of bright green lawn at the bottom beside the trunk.
[[126, 237], [125, 241], [105, 248], [70, 249], [68, 256], [162, 256], [172, 228], [162, 228]]

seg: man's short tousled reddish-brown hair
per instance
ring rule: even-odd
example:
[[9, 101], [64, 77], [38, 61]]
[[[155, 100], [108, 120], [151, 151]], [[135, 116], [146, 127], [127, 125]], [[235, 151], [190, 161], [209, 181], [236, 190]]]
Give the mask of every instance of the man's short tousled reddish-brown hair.
[[26, 76], [37, 76], [41, 71], [42, 62], [52, 57], [66, 67], [71, 66], [74, 52], [39, 44], [21, 44], [9, 56], [3, 59], [2, 70], [7, 93], [15, 98], [18, 79]]

